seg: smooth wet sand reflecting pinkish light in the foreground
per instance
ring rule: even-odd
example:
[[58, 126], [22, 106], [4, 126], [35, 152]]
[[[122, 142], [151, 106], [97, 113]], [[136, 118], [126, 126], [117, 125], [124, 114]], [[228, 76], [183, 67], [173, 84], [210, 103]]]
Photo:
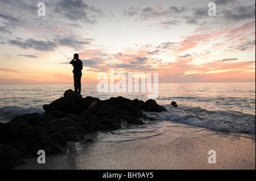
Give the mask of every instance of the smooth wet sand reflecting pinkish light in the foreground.
[[[16, 169], [255, 169], [255, 134], [164, 124], [161, 134], [140, 140], [69, 142], [65, 153], [46, 155], [45, 164], [30, 158]], [[209, 150], [216, 151], [216, 163], [208, 163]]]

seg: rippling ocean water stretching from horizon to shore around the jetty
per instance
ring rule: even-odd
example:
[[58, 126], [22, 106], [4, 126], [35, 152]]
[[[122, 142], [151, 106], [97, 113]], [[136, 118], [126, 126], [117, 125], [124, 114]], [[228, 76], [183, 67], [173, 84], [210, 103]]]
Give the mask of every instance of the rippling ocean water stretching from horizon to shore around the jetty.
[[[0, 121], [24, 113], [43, 113], [43, 105], [63, 96], [73, 85], [1, 85]], [[146, 93], [99, 93], [97, 85], [82, 85], [82, 97], [101, 100], [112, 96], [146, 101]], [[100, 141], [129, 141], [162, 133], [166, 121], [190, 124], [221, 132], [255, 134], [255, 83], [159, 83], [158, 104], [167, 112], [147, 112], [154, 117], [146, 125], [123, 127], [113, 134], [98, 134]], [[172, 107], [175, 101], [179, 106]]]

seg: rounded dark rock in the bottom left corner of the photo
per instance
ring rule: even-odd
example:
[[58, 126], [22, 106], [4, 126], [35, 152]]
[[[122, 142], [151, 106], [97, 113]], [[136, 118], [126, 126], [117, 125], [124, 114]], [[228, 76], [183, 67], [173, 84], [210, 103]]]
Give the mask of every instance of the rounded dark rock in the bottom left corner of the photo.
[[12, 146], [6, 145], [0, 148], [0, 170], [15, 169], [15, 166], [23, 163], [19, 151]]

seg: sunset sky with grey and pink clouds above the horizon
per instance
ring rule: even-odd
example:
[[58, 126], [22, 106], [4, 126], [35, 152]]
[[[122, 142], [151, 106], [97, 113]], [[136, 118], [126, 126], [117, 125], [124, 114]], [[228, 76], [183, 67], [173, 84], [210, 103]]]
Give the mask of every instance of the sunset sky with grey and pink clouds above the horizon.
[[255, 82], [255, 0], [0, 0], [0, 85], [73, 83], [74, 53], [82, 83], [110, 68], [159, 83]]

